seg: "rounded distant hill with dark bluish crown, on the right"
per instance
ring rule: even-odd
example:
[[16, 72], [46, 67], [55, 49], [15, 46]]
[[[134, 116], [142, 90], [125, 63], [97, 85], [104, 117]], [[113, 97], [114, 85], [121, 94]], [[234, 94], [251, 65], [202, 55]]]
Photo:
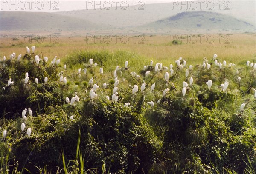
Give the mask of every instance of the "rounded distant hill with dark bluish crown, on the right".
[[182, 12], [142, 25], [137, 31], [145, 33], [218, 33], [255, 32], [255, 26], [226, 14], [207, 11]]

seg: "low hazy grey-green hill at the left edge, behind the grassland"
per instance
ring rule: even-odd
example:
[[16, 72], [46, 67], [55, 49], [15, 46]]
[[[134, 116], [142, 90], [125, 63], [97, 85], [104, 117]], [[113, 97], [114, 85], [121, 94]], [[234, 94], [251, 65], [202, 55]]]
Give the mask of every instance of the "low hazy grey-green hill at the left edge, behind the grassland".
[[88, 31], [98, 24], [55, 13], [1, 11], [0, 31]]

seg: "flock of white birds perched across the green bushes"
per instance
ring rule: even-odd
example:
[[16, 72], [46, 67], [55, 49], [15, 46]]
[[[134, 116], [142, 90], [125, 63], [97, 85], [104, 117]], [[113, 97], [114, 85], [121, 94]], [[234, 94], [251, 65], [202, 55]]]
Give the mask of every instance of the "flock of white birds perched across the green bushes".
[[[35, 53], [35, 46], [32, 46], [31, 48], [32, 48], [32, 53], [34, 54], [34, 53]], [[28, 47], [26, 47], [26, 52], [27, 52], [27, 54], [30, 53], [30, 49], [29, 49]], [[15, 53], [12, 53], [12, 54], [10, 55], [10, 59], [14, 59], [14, 58], [15, 58], [15, 55], [16, 55]], [[22, 56], [22, 55], [20, 54], [17, 59], [20, 60], [21, 56]], [[214, 62], [214, 63], [215, 63], [215, 66], [217, 66], [217, 67], [219, 67], [219, 68], [222, 68], [223, 66], [226, 66], [226, 65], [227, 65], [227, 62], [226, 62], [225, 60], [223, 61], [223, 63], [218, 62], [218, 60], [216, 60], [217, 57], [218, 57], [217, 54], [214, 54], [214, 55], [213, 55], [213, 60], [215, 60], [215, 62]], [[6, 60], [6, 57], [4, 56], [4, 57], [3, 57], [3, 61], [5, 61], [5, 60]], [[183, 61], [183, 64], [180, 63], [181, 60]], [[41, 60], [38, 55], [35, 55], [35, 63], [38, 65], [40, 61], [45, 61], [45, 62], [47, 62], [47, 61], [48, 61], [48, 57], [44, 57], [44, 60]], [[60, 59], [57, 59], [57, 56], [55, 56], [54, 59], [51, 61], [51, 65], [54, 65], [54, 64], [59, 65], [59, 63], [60, 63]], [[180, 57], [178, 60], [176, 60], [175, 63], [177, 64], [177, 68], [182, 69], [182, 68], [184, 68], [184, 67], [187, 67], [187, 66], [186, 66], [186, 60], [183, 60], [182, 57]], [[90, 59], [90, 60], [89, 60], [89, 64], [90, 64], [90, 66], [97, 66], [97, 65], [98, 65], [97, 63], [94, 63], [94, 64], [93, 64], [93, 59]], [[153, 67], [153, 60], [151, 60], [150, 66]], [[230, 63], [230, 64], [228, 65], [229, 68], [231, 68], [232, 66], [235, 66], [235, 64]], [[247, 66], [247, 67], [253, 67], [254, 70], [256, 69], [256, 63], [250, 63], [250, 61], [247, 61], [246, 66]], [[174, 74], [174, 69], [173, 69], [174, 66], [173, 66], [172, 64], [170, 64], [169, 67], [170, 67], [170, 70], [169, 70], [169, 71], [170, 71], [170, 74], [169, 74], [169, 72], [168, 72], [168, 67], [163, 66], [162, 63], [156, 63], [156, 65], [154, 66], [154, 71], [155, 71], [155, 73], [158, 73], [158, 72], [160, 72], [160, 71], [166, 71], [163, 78], [164, 78], [164, 80], [165, 80], [167, 83], [169, 82], [169, 78]], [[192, 70], [193, 67], [194, 67], [194, 66], [189, 65], [189, 68], [186, 69], [186, 72], [185, 72], [186, 78], [189, 76], [189, 71]], [[201, 67], [202, 67], [202, 68], [207, 68], [207, 69], [209, 70], [209, 69], [211, 68], [211, 64], [209, 64], [209, 63], [207, 63], [207, 62], [204, 61], [203, 64], [201, 65]], [[64, 65], [64, 69], [66, 69], [66, 68], [67, 68], [67, 66]], [[125, 69], [127, 69], [127, 68], [128, 68], [128, 61], [125, 61]], [[144, 70], [146, 70], [147, 68], [148, 68], [148, 66], [144, 66], [144, 67], [143, 67]], [[118, 99], [119, 99], [118, 92], [117, 92], [117, 91], [118, 91], [118, 85], [119, 85], [119, 80], [118, 80], [117, 72], [122, 73], [120, 70], [121, 70], [120, 66], [116, 66], [116, 69], [114, 70], [114, 74], [113, 74], [113, 75], [114, 75], [114, 80], [115, 80], [115, 82], [114, 82], [114, 88], [113, 88], [113, 95], [112, 95], [112, 97], [111, 97], [111, 100], [112, 100], [113, 102], [117, 102]], [[81, 75], [81, 71], [82, 71], [82, 69], [79, 68], [79, 69], [78, 69], [78, 75], [79, 75], [79, 76]], [[84, 71], [84, 74], [86, 74], [86, 73], [87, 73], [87, 68], [84, 68], [83, 71]], [[100, 68], [100, 69], [99, 69], [99, 73], [100, 73], [101, 75], [103, 75], [103, 68]], [[151, 71], [146, 71], [146, 72], [145, 72], [145, 77], [149, 76], [150, 73], [151, 73]], [[59, 82], [60, 82], [60, 83], [67, 84], [67, 78], [66, 78], [66, 77], [63, 77], [63, 71], [61, 71], [61, 73], [59, 73], [59, 76], [60, 76]], [[140, 77], [140, 76], [137, 75], [135, 72], [131, 72], [131, 76], [133, 76], [133, 77]], [[44, 78], [44, 83], [47, 83], [47, 80], [48, 80], [48, 77], [45, 77], [45, 78]], [[24, 79], [25, 85], [28, 83], [28, 81], [29, 81], [29, 73], [26, 73], [26, 74], [25, 74], [25, 79]], [[240, 82], [240, 81], [241, 81], [241, 77], [238, 77], [237, 81]], [[35, 78], [35, 83], [38, 84], [38, 78]], [[10, 79], [8, 80], [7, 86], [10, 86], [10, 85], [12, 85], [12, 84], [14, 84], [14, 82], [13, 82], [12, 79], [10, 78]], [[183, 97], [186, 95], [186, 90], [187, 90], [187, 88], [188, 88], [189, 86], [192, 86], [192, 84], [193, 84], [193, 78], [192, 78], [192, 77], [189, 78], [189, 84], [188, 84], [187, 82], [183, 81], [183, 88], [182, 88], [182, 91], [181, 91]], [[212, 87], [212, 80], [208, 80], [208, 81], [206, 82], [206, 84], [207, 84], [208, 88], [211, 89], [211, 87]], [[90, 92], [89, 92], [89, 97], [90, 97], [90, 99], [94, 99], [94, 98], [96, 98], [96, 97], [98, 96], [98, 95], [96, 94], [96, 91], [97, 91], [97, 89], [99, 89], [100, 87], [99, 87], [97, 84], [94, 84], [94, 82], [93, 82], [93, 77], [91, 77], [91, 79], [89, 80], [89, 85], [92, 86], [92, 89], [91, 89]], [[227, 81], [225, 81], [224, 84], [221, 84], [221, 85], [220, 85], [220, 88], [222, 89], [222, 91], [225, 91], [225, 90], [227, 90], [228, 85], [229, 85], [229, 83], [228, 83]], [[107, 85], [106, 83], [103, 84], [103, 88], [104, 88], [104, 89], [106, 89], [107, 86], [108, 86], [108, 85]], [[143, 93], [143, 91], [145, 90], [146, 86], [147, 86], [147, 84], [143, 81], [143, 84], [140, 86], [140, 92]], [[151, 85], [151, 87], [150, 87], [150, 91], [151, 91], [151, 92], [154, 91], [155, 86], [156, 86], [155, 83], [153, 83], [153, 84]], [[3, 90], [5, 90], [5, 87], [3, 87]], [[139, 91], [139, 87], [135, 84], [135, 85], [133, 86], [133, 88], [132, 88], [132, 94], [135, 95], [135, 94], [137, 94], [138, 91]], [[169, 91], [169, 88], [163, 90], [163, 97], [166, 95], [166, 92], [168, 92], [168, 91]], [[254, 92], [255, 92], [254, 97], [256, 98], [256, 89], [254, 89]], [[107, 100], [110, 100], [110, 97], [109, 97], [109, 96], [106, 96], [106, 99], [107, 99]], [[70, 100], [68, 97], [66, 97], [65, 100], [66, 100], [66, 103], [67, 103], [67, 104], [70, 104], [70, 105], [73, 105], [75, 102], [79, 102], [79, 97], [78, 97], [78, 95], [77, 95], [77, 92], [75, 92], [75, 95], [74, 95], [74, 97], [71, 98], [71, 100]], [[160, 99], [157, 101], [157, 103], [159, 103], [159, 102], [160, 102]], [[153, 101], [147, 102], [147, 104], [150, 105], [151, 108], [154, 108], [154, 102], [153, 102]], [[245, 105], [246, 105], [246, 103], [242, 103], [242, 104], [241, 104], [241, 107], [240, 107], [240, 110], [241, 110], [241, 111], [244, 110]], [[130, 103], [125, 103], [125, 104], [124, 104], [124, 107], [133, 107], [133, 106], [131, 106]], [[27, 117], [26, 117], [27, 111], [28, 111], [29, 116], [32, 117], [32, 110], [31, 110], [30, 108], [28, 108], [28, 110], [25, 108], [25, 109], [22, 111], [22, 118], [23, 118], [23, 121], [25, 121], [25, 120], [27, 119]], [[70, 116], [70, 120], [72, 120], [73, 118], [74, 118], [74, 115]], [[21, 131], [24, 131], [25, 127], [26, 127], [26, 126], [25, 126], [25, 123], [23, 122], [23, 123], [21, 124]], [[28, 136], [31, 135], [31, 128], [28, 128], [28, 129], [27, 129], [27, 133], [26, 133], [26, 134], [27, 134]], [[5, 138], [6, 135], [7, 135], [7, 131], [4, 130], [4, 131], [3, 131], [3, 137]]]

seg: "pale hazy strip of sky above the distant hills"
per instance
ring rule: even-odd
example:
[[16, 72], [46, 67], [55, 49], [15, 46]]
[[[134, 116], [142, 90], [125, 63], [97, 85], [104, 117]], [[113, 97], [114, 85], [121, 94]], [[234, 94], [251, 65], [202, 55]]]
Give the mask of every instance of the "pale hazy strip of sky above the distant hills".
[[134, 8], [150, 3], [169, 3], [172, 0], [0, 0], [1, 11], [57, 12], [82, 9]]

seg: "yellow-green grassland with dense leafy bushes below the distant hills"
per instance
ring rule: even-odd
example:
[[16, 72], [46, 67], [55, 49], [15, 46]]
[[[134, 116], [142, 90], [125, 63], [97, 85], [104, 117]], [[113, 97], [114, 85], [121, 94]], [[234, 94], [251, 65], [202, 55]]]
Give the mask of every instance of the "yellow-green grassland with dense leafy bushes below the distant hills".
[[212, 36], [1, 40], [0, 174], [255, 174], [256, 35]]

